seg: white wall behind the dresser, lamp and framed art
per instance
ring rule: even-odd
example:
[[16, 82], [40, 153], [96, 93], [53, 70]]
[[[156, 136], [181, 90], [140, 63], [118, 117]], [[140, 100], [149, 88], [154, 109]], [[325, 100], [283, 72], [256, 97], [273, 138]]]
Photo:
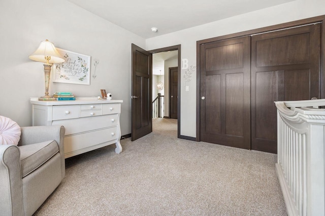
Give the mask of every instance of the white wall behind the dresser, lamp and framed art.
[[30, 97], [45, 92], [43, 64], [28, 56], [49, 39], [61, 49], [99, 61], [90, 85], [50, 81], [50, 94], [71, 91], [77, 97], [99, 96], [106, 89], [123, 100], [121, 134], [131, 133], [131, 44], [145, 47], [145, 39], [66, 0], [0, 1], [0, 115], [20, 126], [31, 125]]

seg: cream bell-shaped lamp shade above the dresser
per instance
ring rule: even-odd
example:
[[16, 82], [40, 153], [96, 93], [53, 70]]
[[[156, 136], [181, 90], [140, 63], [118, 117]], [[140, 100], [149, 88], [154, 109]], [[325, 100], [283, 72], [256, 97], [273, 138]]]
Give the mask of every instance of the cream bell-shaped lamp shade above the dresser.
[[42, 41], [39, 48], [30, 56], [29, 59], [45, 63], [62, 63], [64, 59], [57, 52], [52, 42]]

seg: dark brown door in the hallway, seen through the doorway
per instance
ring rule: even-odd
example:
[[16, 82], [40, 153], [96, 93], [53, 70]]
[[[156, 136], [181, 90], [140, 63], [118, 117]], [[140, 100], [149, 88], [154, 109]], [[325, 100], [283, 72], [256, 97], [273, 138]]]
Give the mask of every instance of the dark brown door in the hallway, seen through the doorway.
[[170, 116], [177, 119], [177, 99], [178, 99], [178, 67], [169, 68], [169, 88], [170, 88]]

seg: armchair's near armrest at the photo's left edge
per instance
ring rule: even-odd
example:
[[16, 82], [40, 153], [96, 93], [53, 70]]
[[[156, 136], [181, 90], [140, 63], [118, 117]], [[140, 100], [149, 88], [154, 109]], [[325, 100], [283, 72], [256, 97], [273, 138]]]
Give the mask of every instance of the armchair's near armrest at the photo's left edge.
[[23, 215], [20, 151], [15, 145], [0, 145], [0, 209], [4, 215]]

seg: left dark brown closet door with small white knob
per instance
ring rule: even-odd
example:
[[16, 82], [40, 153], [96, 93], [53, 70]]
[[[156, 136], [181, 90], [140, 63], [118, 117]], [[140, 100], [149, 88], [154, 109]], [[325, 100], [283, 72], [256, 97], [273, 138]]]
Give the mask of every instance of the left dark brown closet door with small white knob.
[[200, 49], [201, 141], [250, 149], [250, 36]]

